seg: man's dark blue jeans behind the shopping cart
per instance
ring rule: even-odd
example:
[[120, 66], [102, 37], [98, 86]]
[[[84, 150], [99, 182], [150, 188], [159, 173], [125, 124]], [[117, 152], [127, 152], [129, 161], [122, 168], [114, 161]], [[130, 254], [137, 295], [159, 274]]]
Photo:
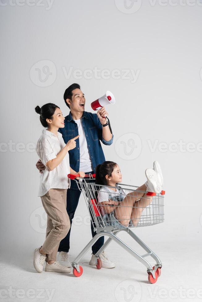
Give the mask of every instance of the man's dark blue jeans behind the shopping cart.
[[[94, 173], [93, 171], [87, 172], [85, 174]], [[87, 181], [86, 181], [87, 182]], [[90, 181], [92, 182], [92, 180]], [[79, 197], [81, 195], [81, 191], [77, 189], [68, 189], [67, 190], [67, 214], [69, 215], [70, 224], [72, 225], [72, 219], [74, 218], [74, 213], [76, 211], [76, 208], [78, 206]], [[91, 224], [91, 233], [92, 237], [96, 235], [96, 232], [93, 231], [93, 224], [92, 221], [90, 221]], [[60, 246], [58, 248], [58, 251], [61, 252], [69, 252], [69, 237], [70, 237], [71, 227], [64, 239], [61, 240]], [[103, 246], [104, 244], [104, 236], [100, 237], [92, 246], [92, 252], [95, 255], [97, 251]]]

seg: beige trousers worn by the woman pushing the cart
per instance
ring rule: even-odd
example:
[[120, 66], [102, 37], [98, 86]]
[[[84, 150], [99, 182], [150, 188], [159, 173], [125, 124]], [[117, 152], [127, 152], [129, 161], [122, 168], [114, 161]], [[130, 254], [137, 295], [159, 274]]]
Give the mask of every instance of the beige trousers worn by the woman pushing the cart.
[[70, 229], [69, 216], [66, 210], [67, 189], [50, 189], [41, 196], [47, 214], [46, 240], [42, 246], [46, 261], [56, 261], [57, 250]]

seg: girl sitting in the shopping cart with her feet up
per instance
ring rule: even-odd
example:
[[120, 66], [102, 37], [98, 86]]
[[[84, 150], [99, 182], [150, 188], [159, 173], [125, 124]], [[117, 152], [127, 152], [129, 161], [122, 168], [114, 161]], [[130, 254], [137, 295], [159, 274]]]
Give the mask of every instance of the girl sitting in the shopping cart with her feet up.
[[[160, 193], [163, 177], [159, 163], [154, 161], [154, 169], [146, 169], [145, 175], [147, 182], [137, 191]], [[103, 185], [97, 197], [103, 221], [106, 226], [136, 227], [143, 210], [152, 202], [152, 196], [136, 190], [126, 194], [120, 187], [113, 188], [119, 182], [122, 182], [122, 174], [115, 162], [104, 161], [97, 166], [95, 183]]]

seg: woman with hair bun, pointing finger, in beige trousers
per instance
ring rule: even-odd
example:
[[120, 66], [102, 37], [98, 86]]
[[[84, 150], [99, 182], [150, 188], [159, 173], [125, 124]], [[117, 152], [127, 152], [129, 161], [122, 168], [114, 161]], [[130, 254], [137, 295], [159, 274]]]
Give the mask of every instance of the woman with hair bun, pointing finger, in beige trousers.
[[[69, 167], [69, 150], [76, 147], [79, 135], [65, 144], [59, 128], [64, 128], [64, 116], [60, 108], [52, 103], [36, 106], [35, 111], [40, 114], [40, 122], [47, 129], [42, 134], [36, 145], [36, 152], [46, 169], [40, 174], [39, 194], [44, 210], [47, 213], [46, 239], [43, 246], [34, 251], [34, 267], [39, 273], [43, 271], [57, 271], [69, 273], [70, 268], [62, 266], [56, 261], [60, 241], [70, 229], [69, 216], [66, 211], [67, 189], [70, 181], [67, 174], [77, 174]], [[84, 172], [78, 172], [84, 177]]]

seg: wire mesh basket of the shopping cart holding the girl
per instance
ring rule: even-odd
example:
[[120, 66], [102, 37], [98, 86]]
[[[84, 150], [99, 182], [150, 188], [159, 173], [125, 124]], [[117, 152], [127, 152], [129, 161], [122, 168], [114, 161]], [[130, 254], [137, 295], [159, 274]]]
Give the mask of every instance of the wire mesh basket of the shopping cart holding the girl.
[[[137, 190], [137, 186], [117, 183], [116, 186], [97, 185], [91, 178], [79, 178], [78, 188], [83, 196], [94, 230], [152, 226], [164, 221], [164, 194]], [[99, 198], [105, 194], [106, 201]], [[107, 200], [108, 194], [108, 200]]]

